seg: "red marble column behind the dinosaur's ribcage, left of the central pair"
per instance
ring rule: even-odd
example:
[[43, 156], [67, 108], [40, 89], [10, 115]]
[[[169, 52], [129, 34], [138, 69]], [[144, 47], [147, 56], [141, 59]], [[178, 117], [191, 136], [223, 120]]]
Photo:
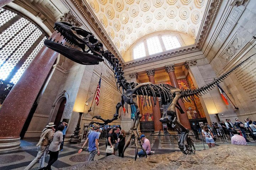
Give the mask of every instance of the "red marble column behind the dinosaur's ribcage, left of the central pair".
[[[148, 75], [149, 81], [155, 84], [155, 69], [148, 69], [146, 70], [146, 73]], [[151, 101], [153, 101], [152, 97], [151, 97]], [[162, 129], [162, 123], [159, 121], [159, 119], [161, 118], [161, 112], [160, 112], [158, 100], [156, 100], [155, 106], [153, 104], [152, 110], [153, 110], [153, 116], [154, 116], [155, 131], [159, 131], [160, 129]]]

